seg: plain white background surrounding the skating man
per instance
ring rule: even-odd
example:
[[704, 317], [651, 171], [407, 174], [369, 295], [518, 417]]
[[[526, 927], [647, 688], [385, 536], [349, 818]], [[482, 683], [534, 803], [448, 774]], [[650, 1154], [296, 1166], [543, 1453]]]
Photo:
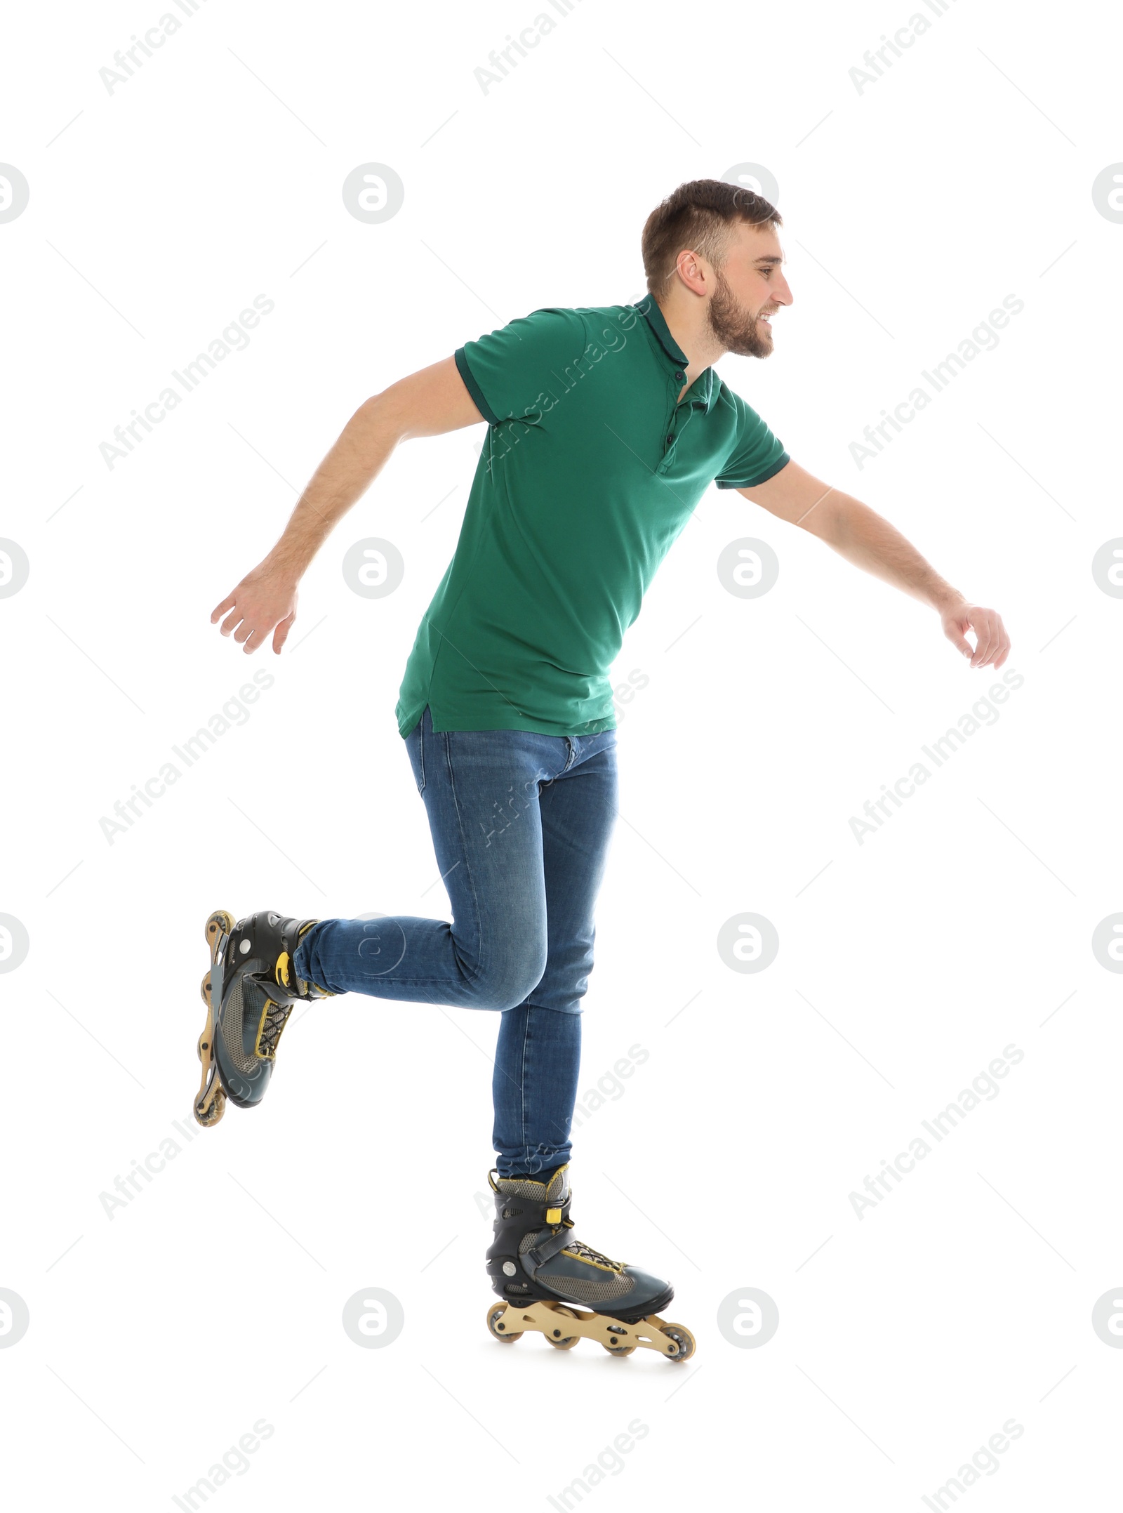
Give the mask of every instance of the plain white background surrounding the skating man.
[[[263, 1418], [207, 1507], [549, 1507], [639, 1419], [583, 1507], [897, 1510], [1013, 1418], [970, 1507], [1106, 1505], [1123, 1354], [1091, 1310], [1123, 1283], [1123, 1036], [1090, 943], [1123, 908], [1123, 602], [1091, 558], [1123, 534], [1123, 225], [1091, 185], [1123, 157], [1117, 20], [1069, 8], [1062, 44], [1055, 8], [958, 0], [860, 94], [849, 70], [919, 3], [583, 0], [484, 94], [537, 0], [209, 0], [109, 94], [162, 3], [24, 11], [3, 39], [0, 159], [30, 183], [0, 225], [0, 536], [30, 561], [0, 599], [0, 912], [30, 937], [0, 977], [0, 1286], [30, 1309], [0, 1350], [12, 1501], [168, 1507]], [[406, 185], [381, 225], [341, 198], [371, 160]], [[1000, 610], [1025, 682], [860, 846], [851, 816], [994, 678], [932, 611], [705, 495], [617, 663], [649, 682], [619, 732], [583, 1092], [649, 1059], [574, 1162], [583, 1236], [672, 1277], [698, 1354], [499, 1347], [493, 1017], [313, 1008], [260, 1111], [189, 1120], [212, 908], [446, 908], [394, 704], [483, 430], [390, 460], [285, 655], [250, 661], [209, 614], [363, 398], [540, 306], [636, 298], [648, 212], [742, 162], [779, 183], [795, 306], [769, 362], [722, 375]], [[109, 469], [114, 427], [259, 294], [248, 350]], [[1011, 294], [997, 350], [858, 471], [863, 427]], [[406, 561], [386, 599], [341, 575], [366, 536]], [[746, 536], [781, 563], [761, 599], [716, 575]], [[100, 819], [266, 664], [251, 719], [109, 844]], [[781, 943], [754, 976], [716, 949], [745, 911]], [[1009, 1044], [1000, 1094], [860, 1219], [849, 1194]], [[341, 1325], [371, 1286], [406, 1313], [381, 1350]], [[745, 1288], [779, 1309], [760, 1348], [716, 1324]]]

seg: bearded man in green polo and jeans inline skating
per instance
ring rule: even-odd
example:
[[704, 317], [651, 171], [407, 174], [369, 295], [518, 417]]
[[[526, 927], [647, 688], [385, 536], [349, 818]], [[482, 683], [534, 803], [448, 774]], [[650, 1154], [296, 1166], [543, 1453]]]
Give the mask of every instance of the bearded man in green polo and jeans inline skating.
[[608, 667], [704, 490], [737, 489], [923, 599], [973, 667], [1000, 667], [1009, 651], [993, 610], [792, 461], [713, 371], [723, 353], [772, 351], [772, 316], [792, 303], [779, 225], [749, 191], [681, 185], [643, 228], [643, 300], [536, 310], [368, 399], [282, 539], [212, 614], [247, 652], [269, 634], [280, 652], [301, 575], [394, 448], [487, 422], [456, 555], [397, 708], [454, 921], [212, 915], [195, 1117], [213, 1124], [226, 1097], [262, 1098], [298, 999], [366, 993], [499, 1011], [487, 1253], [498, 1339], [536, 1328], [560, 1347], [584, 1334], [617, 1354], [693, 1350], [687, 1330], [657, 1316], [669, 1283], [572, 1238], [568, 1163], [593, 905], [616, 814]]

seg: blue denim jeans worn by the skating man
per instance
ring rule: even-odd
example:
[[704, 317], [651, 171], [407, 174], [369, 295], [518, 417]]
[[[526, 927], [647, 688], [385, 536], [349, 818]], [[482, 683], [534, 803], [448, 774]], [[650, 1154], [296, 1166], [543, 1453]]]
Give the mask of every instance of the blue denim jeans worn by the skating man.
[[501, 1177], [569, 1160], [593, 905], [616, 819], [616, 731], [406, 737], [453, 923], [322, 920], [297, 976], [330, 993], [498, 1009], [492, 1095]]

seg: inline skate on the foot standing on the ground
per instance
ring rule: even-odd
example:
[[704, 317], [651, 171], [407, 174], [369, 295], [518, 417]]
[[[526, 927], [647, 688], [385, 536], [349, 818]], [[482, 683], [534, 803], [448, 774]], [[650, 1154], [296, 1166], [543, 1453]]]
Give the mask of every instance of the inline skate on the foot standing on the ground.
[[667, 1360], [687, 1360], [695, 1353], [690, 1330], [658, 1318], [675, 1295], [670, 1283], [574, 1239], [568, 1173], [568, 1165], [558, 1167], [548, 1182], [496, 1182], [489, 1173], [495, 1242], [487, 1274], [504, 1301], [487, 1309], [487, 1328], [504, 1344], [533, 1330], [555, 1350], [595, 1339], [611, 1356], [643, 1345]]

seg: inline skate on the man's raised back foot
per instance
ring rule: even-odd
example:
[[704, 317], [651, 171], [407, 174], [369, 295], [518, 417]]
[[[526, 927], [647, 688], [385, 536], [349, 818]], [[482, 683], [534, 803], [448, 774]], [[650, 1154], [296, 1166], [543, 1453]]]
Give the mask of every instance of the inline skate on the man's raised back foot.
[[292, 970], [301, 935], [316, 923], [265, 911], [235, 924], [226, 909], [207, 920], [210, 971], [201, 985], [207, 1018], [198, 1038], [203, 1080], [192, 1111], [198, 1124], [218, 1124], [227, 1098], [241, 1109], [260, 1103], [292, 1005], [331, 997], [312, 982], [298, 982]]

